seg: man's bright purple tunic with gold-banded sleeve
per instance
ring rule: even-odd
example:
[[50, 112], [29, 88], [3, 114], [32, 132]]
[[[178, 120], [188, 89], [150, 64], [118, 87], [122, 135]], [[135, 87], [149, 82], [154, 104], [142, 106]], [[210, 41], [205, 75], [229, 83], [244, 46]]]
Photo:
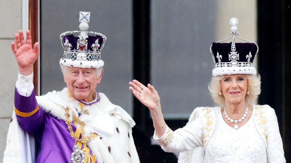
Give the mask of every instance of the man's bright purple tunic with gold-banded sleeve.
[[[25, 97], [18, 94], [15, 89], [14, 103], [15, 108], [23, 113], [30, 113], [38, 106], [34, 90], [29, 97]], [[67, 124], [64, 120], [58, 120], [51, 114], [46, 113], [41, 106], [38, 106], [38, 108], [29, 117], [21, 117], [16, 114], [19, 126], [27, 132], [34, 134], [41, 145], [36, 163], [71, 162], [71, 153], [73, 152], [75, 139], [71, 137]], [[76, 131], [76, 126], [73, 123], [71, 125], [73, 131]], [[80, 134], [81, 137], [82, 133]], [[91, 150], [89, 150], [89, 153], [92, 155]]]

